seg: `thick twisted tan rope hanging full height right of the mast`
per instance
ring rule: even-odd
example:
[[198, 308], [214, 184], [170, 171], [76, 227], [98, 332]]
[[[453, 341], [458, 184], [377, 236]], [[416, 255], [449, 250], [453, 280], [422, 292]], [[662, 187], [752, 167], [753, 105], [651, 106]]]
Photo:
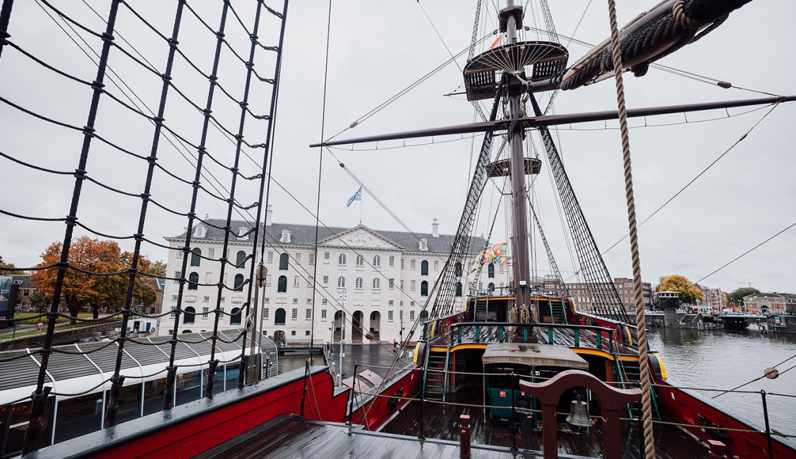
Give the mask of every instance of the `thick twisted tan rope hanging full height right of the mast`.
[[655, 444], [652, 430], [652, 403], [650, 387], [650, 364], [647, 358], [646, 321], [642, 298], [642, 268], [638, 257], [638, 231], [636, 230], [636, 204], [633, 197], [633, 171], [630, 165], [630, 134], [627, 129], [625, 88], [622, 82], [622, 57], [619, 49], [619, 30], [616, 24], [616, 2], [608, 0], [608, 15], [611, 19], [611, 53], [614, 57], [616, 80], [616, 103], [619, 112], [619, 130], [622, 133], [622, 158], [625, 172], [625, 196], [627, 220], [630, 227], [630, 257], [633, 261], [633, 298], [636, 304], [636, 336], [638, 339], [638, 368], [642, 382], [642, 414], [644, 418], [644, 453], [654, 459]]

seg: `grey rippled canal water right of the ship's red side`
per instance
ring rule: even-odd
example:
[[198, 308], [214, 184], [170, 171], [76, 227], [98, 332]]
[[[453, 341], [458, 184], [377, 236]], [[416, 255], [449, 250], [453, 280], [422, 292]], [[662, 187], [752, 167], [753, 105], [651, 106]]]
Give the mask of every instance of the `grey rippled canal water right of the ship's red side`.
[[[720, 392], [689, 391], [752, 426], [764, 429], [763, 403], [759, 391], [767, 393], [771, 429], [796, 435], [796, 335], [763, 335], [757, 329], [680, 330], [652, 329], [647, 334], [650, 348], [657, 350], [669, 383], [678, 387], [732, 389], [763, 376], [766, 368], [777, 367], [777, 379], [762, 378], [739, 391], [711, 399]], [[789, 368], [793, 368], [787, 371]], [[787, 372], [785, 372], [787, 371]], [[773, 395], [786, 394], [790, 397]], [[796, 438], [786, 442], [796, 445]]]

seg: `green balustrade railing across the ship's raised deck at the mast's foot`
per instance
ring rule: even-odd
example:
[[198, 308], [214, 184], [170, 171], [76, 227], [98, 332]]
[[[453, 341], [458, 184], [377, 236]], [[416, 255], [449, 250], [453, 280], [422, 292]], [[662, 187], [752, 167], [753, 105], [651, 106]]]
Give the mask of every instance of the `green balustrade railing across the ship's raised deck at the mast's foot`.
[[[556, 329], [571, 333], [556, 333]], [[451, 324], [448, 340], [451, 347], [459, 344], [488, 343], [532, 343], [537, 333], [545, 337], [548, 344], [560, 344], [570, 348], [591, 348], [614, 353], [617, 348], [615, 330], [597, 325], [539, 324], [519, 322], [462, 322]]]

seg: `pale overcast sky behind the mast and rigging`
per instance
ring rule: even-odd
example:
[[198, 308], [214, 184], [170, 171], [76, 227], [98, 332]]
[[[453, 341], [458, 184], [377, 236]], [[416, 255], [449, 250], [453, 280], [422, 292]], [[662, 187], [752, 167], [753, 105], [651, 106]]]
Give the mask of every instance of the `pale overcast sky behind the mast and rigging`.
[[[103, 16], [108, 2], [89, 2]], [[170, 35], [175, 6], [169, 2], [131, 2], [147, 21], [162, 33]], [[197, 3], [197, 11], [217, 27], [220, 6]], [[252, 6], [232, 2], [248, 27], [252, 25]], [[483, 33], [495, 28], [494, 6], [482, 14]], [[533, 2], [532, 2], [533, 3]], [[591, 6], [587, 8], [587, 5]], [[607, 8], [603, 1], [568, 0], [550, 2], [556, 29], [579, 41], [598, 43], [608, 35]], [[624, 2], [619, 21], [626, 22], [657, 0]], [[104, 24], [82, 2], [54, 2], [73, 18], [101, 30]], [[167, 6], [164, 6], [168, 4]], [[470, 43], [475, 2], [462, 0], [422, 2], [448, 48], [454, 53]], [[279, 5], [273, 4], [276, 8]], [[322, 138], [322, 95], [324, 84], [324, 52], [326, 45], [326, 2], [293, 2], [288, 13], [283, 62], [283, 83], [279, 97], [279, 115], [275, 132], [273, 177], [295, 198], [314, 212], [318, 193], [318, 159], [320, 150], [308, 145]], [[584, 14], [585, 11], [585, 14]], [[50, 11], [52, 14], [52, 11]], [[579, 19], [583, 21], [577, 27]], [[544, 28], [537, 21], [536, 10], [526, 12], [525, 23]], [[755, 0], [736, 11], [715, 32], [694, 45], [661, 60], [661, 64], [727, 80], [736, 87], [765, 91], [778, 95], [796, 93], [793, 72], [796, 69], [796, 4], [791, 0]], [[36, 25], [36, 26], [34, 26]], [[263, 17], [260, 41], [275, 45], [278, 30], [275, 21]], [[577, 30], [576, 30], [577, 28]], [[49, 64], [81, 79], [95, 78], [96, 66], [67, 35], [57, 29], [36, 2], [17, 2], [11, 17], [11, 40]], [[71, 33], [71, 31], [70, 31]], [[162, 72], [168, 49], [163, 41], [146, 29], [129, 10], [121, 7], [117, 33], [146, 56]], [[230, 18], [228, 40], [242, 56], [248, 55], [246, 36], [240, 25]], [[92, 48], [99, 50], [101, 41], [82, 33]], [[537, 39], [528, 33], [527, 39]], [[544, 39], [544, 37], [540, 37]], [[193, 16], [185, 13], [180, 47], [197, 66], [209, 72], [213, 63], [215, 37]], [[489, 45], [492, 38], [486, 40]], [[127, 46], [117, 37], [122, 46]], [[566, 42], [566, 41], [564, 41]], [[582, 45], [568, 45], [571, 59], [587, 51]], [[465, 56], [466, 57], [466, 56]], [[463, 65], [465, 57], [458, 60]], [[326, 99], [324, 137], [345, 129], [349, 123], [365, 115], [398, 91], [431, 71], [449, 58], [443, 42], [418, 2], [334, 2], [330, 34], [330, 63]], [[273, 53], [259, 49], [256, 69], [261, 76], [271, 76]], [[243, 93], [245, 68], [226, 49], [221, 54], [220, 82], [237, 99]], [[111, 51], [111, 68], [122, 76], [147, 107], [156, 111], [161, 81], [133, 64], [118, 50]], [[367, 134], [412, 130], [431, 126], [468, 123], [474, 120], [472, 107], [462, 96], [444, 94], [460, 90], [461, 72], [455, 64], [404, 95], [383, 111], [373, 115], [340, 138]], [[109, 82], [108, 91], [121, 97], [122, 91]], [[174, 67], [174, 84], [204, 106], [207, 82], [178, 57]], [[626, 75], [628, 107], [651, 107], [674, 103], [696, 103], [726, 99], [759, 97], [755, 92], [733, 88], [725, 90], [681, 76], [650, 69], [647, 76]], [[33, 64], [15, 49], [6, 47], [0, 57], [0, 88], [2, 97], [42, 115], [74, 126], [84, 126], [88, 116], [91, 91], [84, 85], [65, 80]], [[543, 100], [545, 95], [541, 96]], [[250, 108], [256, 114], [267, 113], [270, 85], [252, 84]], [[565, 91], [556, 99], [556, 112], [602, 111], [615, 108], [615, 87], [612, 80], [575, 91]], [[749, 109], [701, 114], [667, 115], [634, 119], [630, 133], [633, 154], [635, 197], [639, 220], [654, 212], [677, 193], [702, 169], [716, 160], [768, 111], [743, 114]], [[240, 107], [217, 91], [213, 114], [224, 126], [236, 132]], [[728, 118], [728, 115], [734, 115]], [[751, 247], [796, 222], [794, 197], [794, 132], [791, 122], [796, 104], [782, 104], [751, 131], [699, 180], [681, 193], [640, 229], [642, 277], [657, 282], [666, 274], [684, 274], [692, 281], [710, 274]], [[80, 133], [33, 119], [3, 103], [0, 104], [0, 152], [50, 169], [69, 171], [76, 168], [80, 155]], [[714, 121], [697, 121], [718, 119]], [[688, 121], [689, 123], [685, 123]], [[166, 125], [198, 143], [201, 115], [174, 91], [166, 105]], [[667, 126], [653, 126], [667, 125]], [[265, 139], [265, 123], [248, 119], [245, 138], [259, 143]], [[622, 183], [622, 154], [617, 123], [589, 123], [562, 126], [556, 130], [560, 152], [564, 157], [573, 187], [591, 225], [599, 247], [604, 251], [626, 233], [626, 208]], [[646, 127], [644, 127], [646, 126]], [[100, 101], [97, 133], [127, 150], [146, 156], [150, 152], [153, 127], [145, 119], [123, 109], [107, 97]], [[606, 129], [609, 128], [609, 129]], [[460, 136], [461, 137], [461, 136]], [[404, 142], [382, 142], [357, 146], [357, 150], [333, 150], [388, 208], [413, 231], [431, 231], [431, 220], [439, 219], [440, 231], [453, 233], [466, 196], [471, 173], [471, 158], [478, 153], [481, 138], [435, 138], [435, 145], [416, 146], [430, 139], [406, 142], [407, 148], [392, 148]], [[455, 140], [444, 142], [443, 140]], [[176, 142], [176, 141], [175, 141]], [[218, 130], [210, 129], [208, 150], [223, 161], [234, 159], [235, 145]], [[186, 156], [191, 149], [182, 150]], [[261, 161], [258, 150], [244, 149], [252, 156], [242, 158], [244, 174], [257, 172]], [[259, 156], [258, 156], [259, 155]], [[543, 155], [544, 157], [544, 155]], [[178, 150], [160, 142], [158, 163], [173, 170], [179, 177], [193, 180], [193, 159], [186, 160]], [[538, 201], [544, 231], [564, 278], [572, 277], [572, 258], [568, 252], [560, 217], [552, 196], [550, 176], [543, 158], [542, 173], [535, 182], [534, 197]], [[228, 188], [231, 174], [212, 161], [205, 160], [205, 176], [213, 175]], [[127, 193], [141, 193], [146, 177], [146, 163], [96, 139], [88, 158], [88, 174], [97, 180]], [[72, 197], [73, 177], [53, 176], [32, 171], [0, 158], [2, 201], [0, 208], [28, 216], [63, 217], [68, 213]], [[203, 181], [204, 182], [204, 181]], [[256, 200], [256, 183], [239, 181], [238, 196], [243, 204]], [[498, 184], [499, 185], [499, 184]], [[218, 185], [217, 185], [218, 186]], [[359, 205], [345, 208], [345, 201], [358, 185], [338, 160], [323, 154], [320, 218], [327, 225], [352, 226], [360, 219]], [[179, 212], [187, 212], [191, 189], [165, 173], [154, 174], [153, 199]], [[489, 185], [482, 199], [477, 234], [489, 231], [491, 220], [498, 213], [493, 233], [494, 242], [507, 239], [505, 217], [497, 209], [499, 197]], [[314, 224], [314, 216], [306, 212], [279, 185], [271, 185], [270, 203], [274, 220]], [[131, 235], [139, 220], [140, 200], [119, 196], [98, 185], [84, 185], [80, 201], [80, 221], [96, 231], [110, 235]], [[226, 216], [226, 204], [201, 194], [197, 213], [217, 218]], [[373, 196], [365, 194], [362, 201], [365, 225], [378, 229], [400, 230], [401, 225], [380, 208]], [[239, 218], [233, 214], [233, 217]], [[247, 216], [247, 218], [249, 218]], [[183, 217], [150, 206], [145, 234], [158, 243], [162, 237], [177, 235], [185, 226]], [[17, 266], [38, 263], [39, 255], [54, 240], [64, 235], [64, 224], [30, 222], [0, 216], [0, 255]], [[84, 234], [84, 230], [77, 231]], [[123, 242], [123, 247], [131, 247]], [[144, 253], [152, 259], [164, 259], [166, 251], [145, 244]], [[796, 228], [705, 279], [702, 284], [732, 291], [751, 284], [764, 291], [796, 292]], [[546, 274], [548, 263], [544, 251], [537, 256], [535, 269]], [[630, 249], [618, 244], [606, 255], [606, 262], [615, 277], [630, 277]]]

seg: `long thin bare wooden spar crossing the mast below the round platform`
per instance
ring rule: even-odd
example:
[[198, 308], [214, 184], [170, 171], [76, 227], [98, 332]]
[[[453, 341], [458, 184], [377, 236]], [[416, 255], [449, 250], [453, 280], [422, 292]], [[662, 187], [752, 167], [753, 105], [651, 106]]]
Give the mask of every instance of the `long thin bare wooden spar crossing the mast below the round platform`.
[[[627, 111], [629, 118], [640, 118], [642, 116], [669, 115], [672, 113], [689, 113], [692, 111], [716, 110], [721, 108], [749, 107], [751, 105], [766, 105], [769, 103], [794, 102], [796, 95], [782, 95], [773, 97], [761, 97], [758, 99], [726, 100], [721, 102], [707, 103], [685, 103], [680, 105], [665, 105], [650, 108], [630, 108]], [[528, 118], [517, 119], [517, 123], [523, 128], [538, 126], [560, 126], [562, 124], [588, 123], [591, 121], [604, 121], [607, 119], [617, 119], [618, 111], [591, 111], [584, 113], [574, 113], [571, 115], [542, 115], [531, 116]], [[311, 148], [318, 146], [353, 145], [355, 143], [380, 142], [384, 140], [396, 140], [402, 138], [422, 138], [440, 135], [472, 134], [476, 132], [494, 132], [496, 130], [507, 130], [511, 124], [511, 119], [501, 119], [496, 121], [486, 121], [481, 123], [467, 123], [456, 126], [443, 126], [431, 129], [406, 130], [392, 134], [370, 135], [367, 137], [347, 138], [344, 140], [329, 140], [323, 143], [311, 144]]]

